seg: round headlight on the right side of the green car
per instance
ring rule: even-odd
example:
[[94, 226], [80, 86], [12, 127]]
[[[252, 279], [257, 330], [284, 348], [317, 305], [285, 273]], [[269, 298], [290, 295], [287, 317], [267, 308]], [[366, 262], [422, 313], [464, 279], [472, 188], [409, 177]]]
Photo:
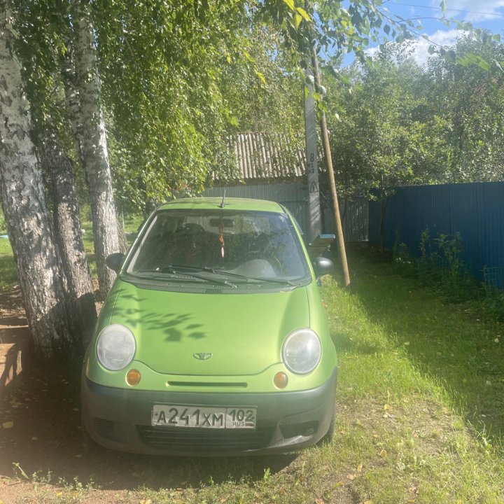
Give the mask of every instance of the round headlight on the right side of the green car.
[[320, 339], [311, 329], [296, 329], [283, 342], [283, 363], [296, 374], [313, 371], [320, 362], [321, 354]]

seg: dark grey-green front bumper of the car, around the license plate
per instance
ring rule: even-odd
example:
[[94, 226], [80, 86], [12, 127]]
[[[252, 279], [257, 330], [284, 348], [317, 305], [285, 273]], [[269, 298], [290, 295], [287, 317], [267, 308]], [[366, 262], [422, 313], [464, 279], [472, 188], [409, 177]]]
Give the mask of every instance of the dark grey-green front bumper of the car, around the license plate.
[[[255, 455], [295, 451], [328, 432], [335, 414], [337, 368], [307, 391], [196, 393], [111, 388], [83, 374], [83, 428], [106, 448], [183, 456]], [[155, 404], [256, 407], [255, 429], [180, 428], [151, 425]]]

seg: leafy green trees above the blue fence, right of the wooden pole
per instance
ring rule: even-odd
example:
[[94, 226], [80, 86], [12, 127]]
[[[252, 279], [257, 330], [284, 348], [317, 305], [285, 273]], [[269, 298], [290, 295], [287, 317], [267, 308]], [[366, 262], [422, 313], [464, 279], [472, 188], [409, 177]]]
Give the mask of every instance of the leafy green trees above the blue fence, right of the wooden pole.
[[[493, 36], [460, 38], [420, 67], [408, 43], [382, 45], [372, 61], [326, 68], [328, 125], [339, 194], [386, 198], [394, 186], [503, 179], [504, 59]], [[451, 54], [451, 52], [449, 52]], [[378, 195], [378, 196], [377, 196]]]

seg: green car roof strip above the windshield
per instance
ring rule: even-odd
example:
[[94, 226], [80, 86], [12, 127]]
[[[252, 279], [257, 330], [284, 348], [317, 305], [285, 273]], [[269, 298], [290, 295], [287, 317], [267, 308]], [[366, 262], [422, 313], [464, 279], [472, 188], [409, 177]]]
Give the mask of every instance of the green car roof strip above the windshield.
[[[163, 204], [158, 210], [167, 209], [216, 209], [220, 208], [223, 199], [221, 197], [192, 197], [181, 198]], [[252, 200], [246, 198], [224, 198], [223, 210], [248, 210], [248, 211], [269, 211], [284, 214], [285, 211], [279, 203], [267, 200]]]

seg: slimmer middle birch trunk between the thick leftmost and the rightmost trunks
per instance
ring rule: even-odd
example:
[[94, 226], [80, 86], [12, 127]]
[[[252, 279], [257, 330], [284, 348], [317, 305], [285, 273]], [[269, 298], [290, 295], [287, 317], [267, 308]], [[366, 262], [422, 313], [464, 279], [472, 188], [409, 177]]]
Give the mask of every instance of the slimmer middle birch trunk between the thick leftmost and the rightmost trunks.
[[55, 132], [46, 131], [39, 141], [43, 166], [52, 181], [55, 239], [67, 281], [72, 328], [87, 344], [97, 312], [80, 228], [72, 164]]

